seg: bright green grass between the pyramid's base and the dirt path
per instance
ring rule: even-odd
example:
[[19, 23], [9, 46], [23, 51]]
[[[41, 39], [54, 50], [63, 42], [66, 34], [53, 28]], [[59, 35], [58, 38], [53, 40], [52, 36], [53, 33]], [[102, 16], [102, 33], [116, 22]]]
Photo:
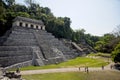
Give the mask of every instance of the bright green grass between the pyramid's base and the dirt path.
[[76, 59], [68, 60], [59, 64], [52, 64], [46, 66], [28, 66], [20, 68], [20, 70], [37, 70], [37, 69], [51, 69], [51, 68], [67, 68], [67, 67], [101, 67], [107, 65], [108, 62], [103, 59], [93, 59], [86, 57], [78, 57]]

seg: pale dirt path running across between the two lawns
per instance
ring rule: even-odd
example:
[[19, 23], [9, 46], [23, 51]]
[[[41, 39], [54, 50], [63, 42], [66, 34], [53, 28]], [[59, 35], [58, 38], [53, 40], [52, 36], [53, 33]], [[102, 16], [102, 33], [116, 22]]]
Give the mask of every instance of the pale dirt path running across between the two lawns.
[[[114, 70], [108, 67], [104, 67], [104, 70]], [[104, 71], [102, 68], [89, 68], [89, 71]], [[58, 69], [43, 69], [43, 70], [28, 70], [21, 71], [22, 75], [30, 75], [30, 74], [45, 74], [45, 73], [57, 73], [57, 72], [78, 72], [85, 71], [85, 68], [58, 68]]]

